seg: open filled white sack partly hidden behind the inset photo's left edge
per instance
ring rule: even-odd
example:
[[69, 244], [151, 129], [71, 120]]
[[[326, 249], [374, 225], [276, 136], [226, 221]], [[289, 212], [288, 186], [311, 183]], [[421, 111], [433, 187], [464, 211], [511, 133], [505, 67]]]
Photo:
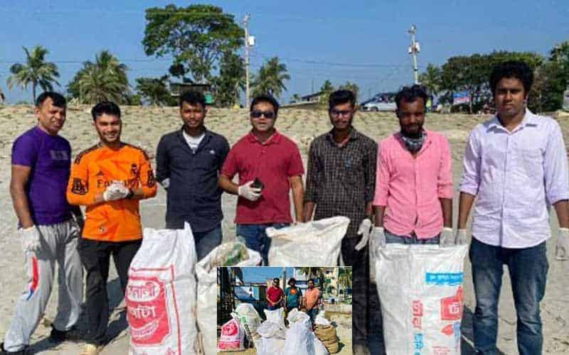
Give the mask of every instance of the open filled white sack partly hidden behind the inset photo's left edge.
[[[229, 265], [234, 263], [233, 265]], [[232, 242], [217, 246], [196, 264], [198, 276], [198, 328], [206, 355], [216, 354], [217, 341], [217, 267], [218, 266], [257, 266], [261, 256], [245, 244]]]

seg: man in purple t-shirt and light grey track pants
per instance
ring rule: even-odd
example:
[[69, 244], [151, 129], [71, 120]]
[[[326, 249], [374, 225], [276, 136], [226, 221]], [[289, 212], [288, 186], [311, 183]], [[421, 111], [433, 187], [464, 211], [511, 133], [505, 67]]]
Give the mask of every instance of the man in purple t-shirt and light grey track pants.
[[[36, 100], [38, 125], [12, 147], [10, 194], [18, 215], [28, 284], [4, 334], [6, 354], [23, 354], [46, 310], [55, 263], [59, 265], [58, 315], [50, 341], [62, 342], [74, 329], [83, 301], [83, 266], [77, 251], [83, 215], [67, 202], [71, 147], [58, 136], [65, 123], [65, 98], [44, 92]], [[73, 335], [74, 337], [76, 335]]]

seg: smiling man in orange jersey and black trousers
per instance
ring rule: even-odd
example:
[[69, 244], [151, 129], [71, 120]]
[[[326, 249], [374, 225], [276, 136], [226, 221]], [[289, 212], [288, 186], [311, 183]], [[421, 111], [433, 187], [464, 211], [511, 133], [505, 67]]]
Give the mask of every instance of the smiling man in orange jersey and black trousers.
[[140, 148], [120, 141], [120, 109], [101, 102], [91, 114], [100, 143], [80, 153], [71, 168], [67, 198], [85, 205], [87, 218], [78, 251], [87, 286], [87, 344], [81, 354], [99, 354], [109, 320], [107, 278], [110, 256], [124, 292], [127, 272], [142, 240], [139, 200], [156, 195], [149, 158]]

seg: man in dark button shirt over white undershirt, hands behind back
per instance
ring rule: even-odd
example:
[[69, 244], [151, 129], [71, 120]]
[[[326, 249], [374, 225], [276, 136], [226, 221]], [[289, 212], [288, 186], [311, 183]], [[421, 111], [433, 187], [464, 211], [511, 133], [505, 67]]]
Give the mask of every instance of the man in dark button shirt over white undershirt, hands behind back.
[[188, 222], [198, 260], [221, 244], [221, 192], [218, 173], [229, 143], [203, 125], [206, 99], [200, 92], [180, 97], [181, 129], [162, 136], [156, 152], [156, 180], [166, 189], [166, 228]]

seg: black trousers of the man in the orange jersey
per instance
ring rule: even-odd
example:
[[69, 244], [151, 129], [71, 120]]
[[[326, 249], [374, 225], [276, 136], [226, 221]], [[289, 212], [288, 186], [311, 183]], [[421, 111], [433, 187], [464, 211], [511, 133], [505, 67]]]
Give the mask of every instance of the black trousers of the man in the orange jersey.
[[107, 278], [109, 278], [110, 257], [119, 274], [122, 292], [127, 288], [129, 266], [140, 248], [142, 239], [136, 241], [95, 241], [81, 238], [78, 245], [81, 263], [87, 272], [85, 309], [87, 311], [87, 339], [90, 344], [106, 342], [109, 322], [109, 300]]

